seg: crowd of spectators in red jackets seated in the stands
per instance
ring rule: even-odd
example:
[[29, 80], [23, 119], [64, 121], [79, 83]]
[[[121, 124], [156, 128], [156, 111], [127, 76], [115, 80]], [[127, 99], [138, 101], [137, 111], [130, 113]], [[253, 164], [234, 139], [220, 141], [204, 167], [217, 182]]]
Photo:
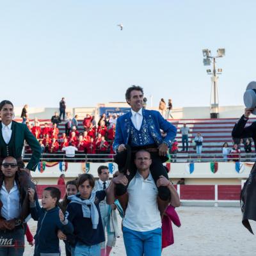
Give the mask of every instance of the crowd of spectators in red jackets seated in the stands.
[[[60, 124], [61, 128], [60, 128]], [[83, 120], [83, 128], [79, 127], [78, 115], [61, 121], [56, 112], [51, 118], [51, 124], [35, 119], [31, 124], [26, 121], [29, 131], [39, 141], [42, 152], [58, 153], [66, 151], [67, 147], [75, 147], [78, 152], [84, 154], [113, 154], [113, 140], [115, 138], [116, 116], [103, 114], [96, 124], [94, 116], [86, 115]], [[60, 132], [60, 129], [62, 132]], [[65, 132], [64, 132], [65, 129]], [[26, 147], [26, 153], [30, 148]]]

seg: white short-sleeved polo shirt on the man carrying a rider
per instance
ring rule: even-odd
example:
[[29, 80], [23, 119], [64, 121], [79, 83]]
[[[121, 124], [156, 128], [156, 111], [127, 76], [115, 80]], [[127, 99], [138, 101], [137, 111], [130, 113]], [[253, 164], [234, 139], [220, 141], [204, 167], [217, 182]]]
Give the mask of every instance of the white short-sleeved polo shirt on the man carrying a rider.
[[162, 227], [157, 207], [158, 190], [151, 173], [143, 179], [136, 173], [127, 188], [129, 195], [123, 226], [131, 230], [145, 232]]

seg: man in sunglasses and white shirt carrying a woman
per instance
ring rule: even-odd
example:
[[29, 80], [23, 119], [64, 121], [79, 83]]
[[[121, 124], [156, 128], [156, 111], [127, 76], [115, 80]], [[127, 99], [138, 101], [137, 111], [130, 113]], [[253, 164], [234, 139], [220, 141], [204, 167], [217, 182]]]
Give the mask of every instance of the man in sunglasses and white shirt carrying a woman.
[[24, 219], [22, 205], [26, 191], [18, 179], [18, 164], [14, 157], [1, 164], [3, 184], [0, 187], [0, 255], [20, 256], [24, 253]]

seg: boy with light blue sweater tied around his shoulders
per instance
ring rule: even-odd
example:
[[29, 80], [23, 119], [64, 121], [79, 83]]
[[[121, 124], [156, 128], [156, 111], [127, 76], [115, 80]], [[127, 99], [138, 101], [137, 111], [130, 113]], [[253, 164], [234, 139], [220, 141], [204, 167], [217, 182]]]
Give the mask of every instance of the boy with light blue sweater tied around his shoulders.
[[74, 251], [72, 255], [100, 256], [100, 243], [105, 241], [99, 202], [106, 191], [93, 191], [95, 185], [91, 174], [84, 173], [77, 179], [79, 194], [69, 196], [66, 216], [74, 226]]

